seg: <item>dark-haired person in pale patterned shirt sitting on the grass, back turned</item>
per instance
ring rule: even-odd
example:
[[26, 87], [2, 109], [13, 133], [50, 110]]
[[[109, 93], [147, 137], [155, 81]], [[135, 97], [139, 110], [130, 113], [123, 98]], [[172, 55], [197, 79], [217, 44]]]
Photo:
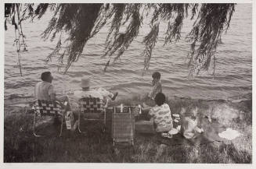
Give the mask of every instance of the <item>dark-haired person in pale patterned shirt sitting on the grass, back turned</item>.
[[173, 128], [171, 110], [168, 104], [165, 102], [164, 93], [157, 93], [154, 97], [155, 106], [147, 107], [144, 105], [142, 111], [149, 111], [149, 115], [153, 117], [154, 125], [156, 125], [156, 132], [160, 132], [161, 136], [171, 138], [171, 134], [168, 132]]

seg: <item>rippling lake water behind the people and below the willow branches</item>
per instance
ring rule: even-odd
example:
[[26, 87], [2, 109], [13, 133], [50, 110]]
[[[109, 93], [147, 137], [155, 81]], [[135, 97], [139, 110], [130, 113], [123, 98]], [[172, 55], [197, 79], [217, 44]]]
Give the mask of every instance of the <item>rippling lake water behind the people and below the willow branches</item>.
[[[139, 37], [124, 52], [121, 60], [111, 63], [106, 72], [104, 64], [109, 58], [103, 55], [107, 28], [103, 28], [88, 41], [78, 62], [75, 62], [66, 75], [58, 72], [56, 58], [45, 64], [45, 58], [56, 46], [56, 41], [41, 39], [50, 14], [34, 22], [23, 23], [23, 33], [27, 36], [27, 52], [21, 54], [23, 76], [17, 66], [14, 28], [9, 25], [5, 31], [5, 99], [10, 97], [33, 97], [34, 85], [40, 81], [41, 72], [51, 71], [53, 85], [57, 93], [79, 89], [81, 78], [89, 76], [92, 86], [102, 86], [118, 91], [119, 98], [142, 95], [150, 90], [151, 74], [161, 73], [163, 92], [168, 96], [191, 97], [193, 99], [228, 99], [243, 97], [252, 90], [252, 5], [236, 5], [229, 30], [222, 35], [223, 44], [218, 47], [215, 76], [202, 73], [193, 79], [188, 78], [187, 54], [189, 43], [185, 36], [191, 29], [191, 22], [185, 22], [182, 39], [175, 44], [164, 44], [164, 23], [160, 29], [157, 45], [153, 50], [150, 69], [143, 74], [144, 58], [140, 57], [142, 38], [149, 30], [143, 26]], [[186, 20], [187, 21], [187, 20]]]

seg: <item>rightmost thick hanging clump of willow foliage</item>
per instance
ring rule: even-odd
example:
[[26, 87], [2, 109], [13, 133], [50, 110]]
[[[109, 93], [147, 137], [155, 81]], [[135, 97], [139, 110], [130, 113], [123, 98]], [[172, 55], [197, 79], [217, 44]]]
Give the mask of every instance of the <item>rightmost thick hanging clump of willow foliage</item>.
[[[234, 4], [201, 5], [196, 23], [189, 33], [193, 51], [189, 55], [193, 58], [191, 65], [197, 65], [197, 69], [209, 68], [212, 53], [220, 44], [223, 30], [228, 29], [233, 11]], [[191, 71], [195, 72], [195, 66], [191, 68]]]

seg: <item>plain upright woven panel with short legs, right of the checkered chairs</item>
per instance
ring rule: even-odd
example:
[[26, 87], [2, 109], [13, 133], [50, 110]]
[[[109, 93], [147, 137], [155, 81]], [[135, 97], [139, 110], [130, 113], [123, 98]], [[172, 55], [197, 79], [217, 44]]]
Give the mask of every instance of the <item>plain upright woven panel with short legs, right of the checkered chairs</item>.
[[115, 142], [131, 142], [134, 144], [135, 115], [131, 111], [117, 113], [116, 107], [112, 114], [112, 138]]

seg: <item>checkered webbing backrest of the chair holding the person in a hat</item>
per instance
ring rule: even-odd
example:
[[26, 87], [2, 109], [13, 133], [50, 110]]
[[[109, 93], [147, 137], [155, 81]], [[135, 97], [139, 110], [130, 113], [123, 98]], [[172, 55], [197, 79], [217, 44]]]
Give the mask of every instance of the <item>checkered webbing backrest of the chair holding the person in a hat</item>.
[[103, 100], [99, 98], [81, 98], [79, 104], [81, 113], [102, 113], [104, 111]]

